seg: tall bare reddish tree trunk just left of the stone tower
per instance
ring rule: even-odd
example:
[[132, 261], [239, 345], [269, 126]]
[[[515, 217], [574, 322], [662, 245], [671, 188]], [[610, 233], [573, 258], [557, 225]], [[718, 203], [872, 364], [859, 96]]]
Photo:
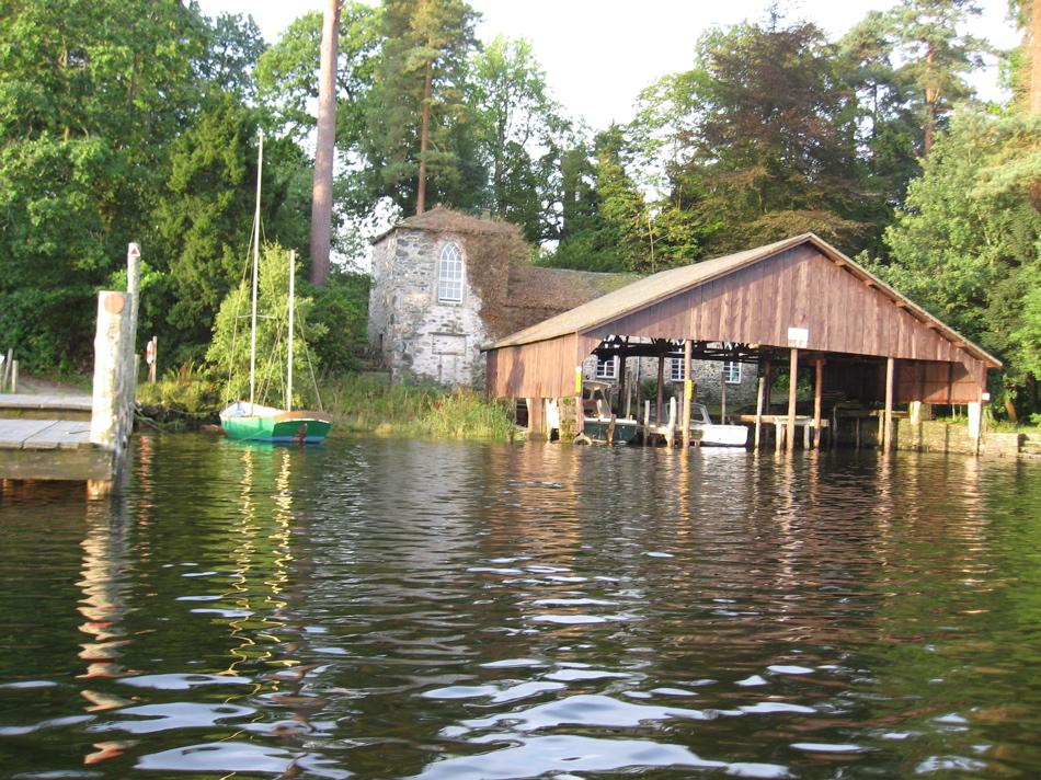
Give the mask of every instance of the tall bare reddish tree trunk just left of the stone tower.
[[340, 37], [340, 0], [325, 0], [322, 50], [318, 81], [318, 138], [314, 148], [314, 184], [311, 190], [311, 283], [329, 280], [332, 243], [332, 168], [336, 151], [336, 56]]

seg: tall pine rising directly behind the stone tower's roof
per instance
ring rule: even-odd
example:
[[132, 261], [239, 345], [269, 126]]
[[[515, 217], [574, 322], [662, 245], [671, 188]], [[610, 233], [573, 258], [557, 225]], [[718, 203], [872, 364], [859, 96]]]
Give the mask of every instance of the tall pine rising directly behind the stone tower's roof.
[[421, 211], [431, 195], [480, 204], [483, 193], [461, 186], [479, 167], [464, 101], [476, 20], [461, 0], [384, 2], [366, 156], [373, 191], [403, 211]]

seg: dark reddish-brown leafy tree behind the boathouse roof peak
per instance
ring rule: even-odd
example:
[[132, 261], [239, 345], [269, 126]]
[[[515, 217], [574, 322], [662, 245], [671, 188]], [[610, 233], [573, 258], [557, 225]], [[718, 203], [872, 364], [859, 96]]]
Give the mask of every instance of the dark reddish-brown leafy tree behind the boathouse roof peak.
[[817, 27], [774, 16], [710, 31], [697, 67], [645, 95], [673, 152], [661, 163], [673, 204], [698, 213], [687, 225], [700, 223], [703, 251], [807, 231], [851, 246], [866, 231], [855, 104], [835, 61]]

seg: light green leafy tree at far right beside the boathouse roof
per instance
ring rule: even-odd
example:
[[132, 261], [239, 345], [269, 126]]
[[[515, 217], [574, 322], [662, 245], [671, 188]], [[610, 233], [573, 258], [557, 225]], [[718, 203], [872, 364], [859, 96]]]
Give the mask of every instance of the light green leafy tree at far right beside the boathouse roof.
[[1037, 145], [1041, 118], [960, 112], [936, 140], [907, 208], [886, 232], [880, 275], [1004, 360], [1009, 398], [1041, 376], [1039, 163], [1007, 167]]

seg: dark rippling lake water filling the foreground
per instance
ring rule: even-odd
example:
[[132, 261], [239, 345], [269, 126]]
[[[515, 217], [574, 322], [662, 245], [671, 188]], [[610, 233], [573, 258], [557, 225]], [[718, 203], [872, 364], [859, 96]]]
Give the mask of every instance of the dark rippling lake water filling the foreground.
[[1041, 777], [1041, 462], [142, 436], [0, 500], [0, 778]]

